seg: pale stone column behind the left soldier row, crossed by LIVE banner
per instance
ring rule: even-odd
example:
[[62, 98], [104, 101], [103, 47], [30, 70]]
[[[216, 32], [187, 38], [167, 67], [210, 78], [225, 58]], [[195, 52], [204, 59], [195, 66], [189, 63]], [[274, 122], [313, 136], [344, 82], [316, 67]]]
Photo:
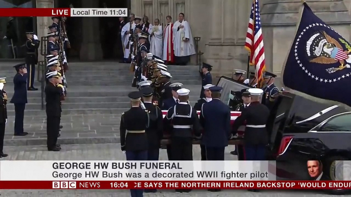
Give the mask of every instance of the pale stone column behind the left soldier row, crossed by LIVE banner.
[[[54, 7], [54, 0], [36, 0], [36, 7], [37, 8], [53, 8]], [[36, 17], [36, 24], [37, 24], [37, 36], [40, 39], [42, 36], [48, 34], [49, 29], [48, 27], [52, 24], [51, 17]], [[45, 49], [44, 49], [45, 50]], [[43, 61], [44, 57], [41, 56], [40, 47], [38, 48], [38, 61]]]

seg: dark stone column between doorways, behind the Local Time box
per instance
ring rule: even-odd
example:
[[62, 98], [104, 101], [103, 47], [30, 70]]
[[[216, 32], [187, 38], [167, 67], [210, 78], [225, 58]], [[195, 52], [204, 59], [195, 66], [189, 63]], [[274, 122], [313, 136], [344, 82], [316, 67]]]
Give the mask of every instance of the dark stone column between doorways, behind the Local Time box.
[[[83, 8], [98, 8], [99, 1], [82, 0]], [[99, 17], [82, 17], [82, 44], [80, 47], [80, 60], [102, 60], [100, 42]]]

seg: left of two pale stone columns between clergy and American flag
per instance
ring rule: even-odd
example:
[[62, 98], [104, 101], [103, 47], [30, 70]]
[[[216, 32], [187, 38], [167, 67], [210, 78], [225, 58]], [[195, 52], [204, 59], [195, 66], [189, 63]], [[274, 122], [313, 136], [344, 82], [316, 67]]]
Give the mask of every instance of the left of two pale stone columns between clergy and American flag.
[[209, 43], [222, 43], [223, 0], [212, 1], [212, 34]]

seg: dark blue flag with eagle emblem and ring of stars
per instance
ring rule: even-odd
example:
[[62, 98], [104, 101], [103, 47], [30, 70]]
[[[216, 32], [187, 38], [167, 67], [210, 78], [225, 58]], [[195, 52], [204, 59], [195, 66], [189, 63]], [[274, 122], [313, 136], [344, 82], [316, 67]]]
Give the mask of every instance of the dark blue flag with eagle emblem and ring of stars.
[[351, 44], [306, 3], [297, 28], [282, 72], [284, 86], [351, 106]]

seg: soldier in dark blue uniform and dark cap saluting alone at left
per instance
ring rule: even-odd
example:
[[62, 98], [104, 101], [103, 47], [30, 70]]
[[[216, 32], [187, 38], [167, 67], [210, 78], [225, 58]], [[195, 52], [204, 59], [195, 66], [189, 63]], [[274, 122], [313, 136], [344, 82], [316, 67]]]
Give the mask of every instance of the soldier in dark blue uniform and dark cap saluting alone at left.
[[14, 66], [17, 73], [13, 78], [14, 93], [10, 103], [15, 106], [15, 136], [28, 135], [23, 129], [23, 119], [25, 116], [25, 108], [27, 101], [27, 68], [26, 64], [17, 64]]

